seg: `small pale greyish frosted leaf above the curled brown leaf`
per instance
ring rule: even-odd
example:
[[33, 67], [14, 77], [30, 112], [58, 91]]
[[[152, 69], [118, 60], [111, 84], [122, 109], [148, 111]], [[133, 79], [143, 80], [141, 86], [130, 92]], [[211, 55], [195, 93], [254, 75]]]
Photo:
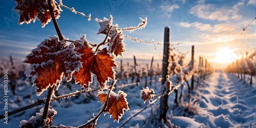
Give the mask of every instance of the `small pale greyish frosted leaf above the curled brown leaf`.
[[99, 22], [99, 26], [100, 26], [100, 29], [99, 29], [99, 32], [97, 34], [107, 34], [110, 27], [112, 26], [113, 24], [113, 17], [112, 15], [110, 15], [110, 19], [107, 19], [104, 17], [104, 20]]

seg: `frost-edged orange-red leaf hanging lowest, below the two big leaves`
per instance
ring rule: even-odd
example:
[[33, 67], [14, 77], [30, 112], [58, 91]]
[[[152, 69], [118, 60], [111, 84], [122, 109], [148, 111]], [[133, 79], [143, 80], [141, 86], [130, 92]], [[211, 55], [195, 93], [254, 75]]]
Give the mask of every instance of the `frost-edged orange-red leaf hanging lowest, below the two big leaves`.
[[[106, 102], [108, 94], [98, 94], [97, 97], [99, 97], [99, 100], [101, 103]], [[104, 112], [110, 113], [110, 115], [113, 117], [113, 120], [119, 122], [119, 119], [121, 119], [123, 115], [123, 110], [128, 111], [129, 106], [127, 99], [125, 98], [126, 94], [123, 91], [118, 91], [118, 94], [115, 92], [110, 93], [108, 105], [106, 106], [106, 109]]]

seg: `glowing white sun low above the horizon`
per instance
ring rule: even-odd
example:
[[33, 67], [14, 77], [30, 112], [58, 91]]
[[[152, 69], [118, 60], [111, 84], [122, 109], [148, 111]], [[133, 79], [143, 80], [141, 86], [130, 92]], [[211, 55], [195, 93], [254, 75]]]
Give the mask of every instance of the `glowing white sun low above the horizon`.
[[237, 59], [238, 55], [229, 48], [223, 48], [216, 54], [216, 61], [221, 63], [231, 63]]

